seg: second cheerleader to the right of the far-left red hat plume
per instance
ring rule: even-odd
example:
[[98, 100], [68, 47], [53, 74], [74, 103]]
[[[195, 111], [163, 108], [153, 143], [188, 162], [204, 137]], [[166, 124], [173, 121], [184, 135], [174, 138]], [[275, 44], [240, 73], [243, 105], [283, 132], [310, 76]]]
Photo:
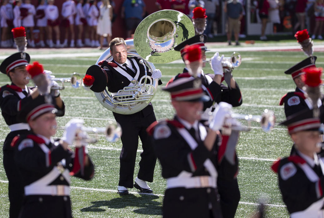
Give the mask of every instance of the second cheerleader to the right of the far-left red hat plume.
[[44, 43], [44, 31], [47, 26], [47, 17], [45, 16], [45, 8], [47, 5], [45, 5], [45, 0], [38, 0], [38, 6], [36, 8], [36, 26], [40, 30], [40, 41], [36, 43], [36, 46], [45, 47]]

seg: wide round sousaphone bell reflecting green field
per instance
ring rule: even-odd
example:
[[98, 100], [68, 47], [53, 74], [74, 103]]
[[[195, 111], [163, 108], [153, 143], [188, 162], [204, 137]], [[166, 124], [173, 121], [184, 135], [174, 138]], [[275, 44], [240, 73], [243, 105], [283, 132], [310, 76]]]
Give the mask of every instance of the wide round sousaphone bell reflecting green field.
[[134, 47], [146, 61], [169, 63], [181, 57], [174, 47], [194, 35], [195, 29], [188, 16], [175, 10], [161, 10], [147, 16], [137, 26]]

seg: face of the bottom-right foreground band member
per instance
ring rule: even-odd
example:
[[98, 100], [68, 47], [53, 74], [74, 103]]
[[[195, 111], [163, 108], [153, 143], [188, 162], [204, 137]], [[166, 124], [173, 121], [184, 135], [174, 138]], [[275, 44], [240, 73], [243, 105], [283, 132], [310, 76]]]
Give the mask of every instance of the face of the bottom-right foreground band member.
[[317, 143], [320, 142], [318, 131], [300, 131], [293, 133], [291, 138], [295, 142], [297, 149], [304, 154], [318, 153], [320, 148]]

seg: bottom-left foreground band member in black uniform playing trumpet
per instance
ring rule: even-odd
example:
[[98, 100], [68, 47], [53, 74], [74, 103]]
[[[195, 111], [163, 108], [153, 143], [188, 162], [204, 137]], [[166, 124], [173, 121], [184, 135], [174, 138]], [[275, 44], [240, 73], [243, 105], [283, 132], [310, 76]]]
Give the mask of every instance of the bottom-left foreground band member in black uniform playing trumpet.
[[80, 130], [83, 120], [71, 119], [61, 140], [54, 142], [51, 137], [56, 132], [55, 112], [54, 105], [39, 96], [29, 101], [18, 115], [18, 119], [27, 122], [31, 129], [30, 133], [12, 141], [25, 191], [21, 218], [72, 218], [70, 175], [90, 180], [94, 174], [85, 142], [76, 143], [75, 152], [69, 148], [75, 136], [86, 136]]

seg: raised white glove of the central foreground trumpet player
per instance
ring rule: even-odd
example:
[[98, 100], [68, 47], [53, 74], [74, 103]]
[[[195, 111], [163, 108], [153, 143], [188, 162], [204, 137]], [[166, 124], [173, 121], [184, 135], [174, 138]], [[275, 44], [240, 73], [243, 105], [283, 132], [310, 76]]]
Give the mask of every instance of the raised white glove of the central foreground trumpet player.
[[232, 114], [232, 105], [226, 102], [220, 102], [213, 112], [213, 119], [209, 124], [209, 128], [217, 131], [224, 125], [224, 120]]

